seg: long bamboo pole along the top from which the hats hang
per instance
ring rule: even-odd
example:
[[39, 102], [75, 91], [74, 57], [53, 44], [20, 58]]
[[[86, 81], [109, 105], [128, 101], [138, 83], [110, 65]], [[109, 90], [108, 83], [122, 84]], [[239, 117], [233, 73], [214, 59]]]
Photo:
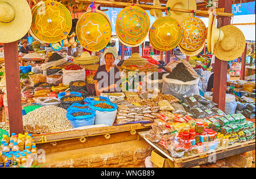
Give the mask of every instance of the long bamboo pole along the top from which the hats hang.
[[[90, 3], [92, 2], [91, 0], [76, 0], [77, 2], [87, 2]], [[126, 6], [131, 6], [133, 3], [127, 3], [127, 2], [114, 2], [114, 1], [95, 1], [97, 4], [101, 5], [112, 5], [113, 7], [126, 7]], [[135, 4], [134, 6], [142, 7], [143, 9], [160, 9], [162, 11], [166, 11], [167, 7], [162, 7], [162, 6], [151, 6], [151, 5], [141, 5], [141, 4]], [[176, 11], [180, 13], [193, 13], [193, 10], [188, 10], [188, 9], [177, 9], [177, 8], [171, 8], [170, 11]], [[210, 11], [199, 11], [195, 10], [195, 13], [197, 16], [205, 16], [209, 15]], [[216, 15], [218, 16], [233, 16], [234, 14], [232, 13], [221, 13], [221, 12], [216, 12]]]

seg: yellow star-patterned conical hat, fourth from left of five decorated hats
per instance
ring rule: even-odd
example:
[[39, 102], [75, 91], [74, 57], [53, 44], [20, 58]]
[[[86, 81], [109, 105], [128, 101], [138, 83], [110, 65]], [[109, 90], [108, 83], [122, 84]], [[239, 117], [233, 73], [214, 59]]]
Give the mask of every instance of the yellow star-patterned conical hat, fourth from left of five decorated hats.
[[177, 47], [182, 37], [179, 22], [169, 16], [159, 18], [150, 28], [151, 45], [160, 51], [170, 51]]

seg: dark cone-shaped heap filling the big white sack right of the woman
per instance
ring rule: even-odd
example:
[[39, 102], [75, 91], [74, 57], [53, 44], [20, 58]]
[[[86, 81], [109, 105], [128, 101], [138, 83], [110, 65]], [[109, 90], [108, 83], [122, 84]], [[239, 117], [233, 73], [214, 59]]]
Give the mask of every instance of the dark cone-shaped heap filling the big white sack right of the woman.
[[196, 80], [191, 73], [188, 72], [187, 67], [183, 63], [179, 63], [176, 65], [172, 72], [168, 74], [167, 78], [180, 80], [183, 82]]

